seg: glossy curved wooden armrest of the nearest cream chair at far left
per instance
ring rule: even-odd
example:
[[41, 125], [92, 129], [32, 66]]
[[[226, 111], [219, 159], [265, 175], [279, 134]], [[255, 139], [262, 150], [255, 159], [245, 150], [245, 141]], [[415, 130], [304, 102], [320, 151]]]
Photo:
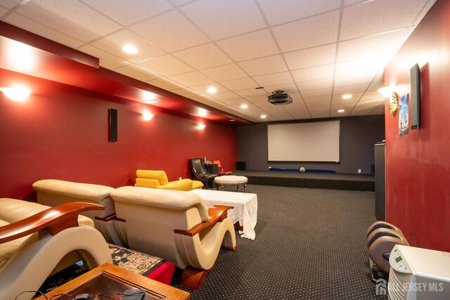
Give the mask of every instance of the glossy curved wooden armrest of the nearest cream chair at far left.
[[49, 228], [51, 235], [56, 235], [67, 228], [77, 227], [80, 212], [102, 209], [105, 207], [84, 202], [70, 202], [51, 207], [18, 222], [1, 226], [0, 244], [25, 237], [45, 228]]

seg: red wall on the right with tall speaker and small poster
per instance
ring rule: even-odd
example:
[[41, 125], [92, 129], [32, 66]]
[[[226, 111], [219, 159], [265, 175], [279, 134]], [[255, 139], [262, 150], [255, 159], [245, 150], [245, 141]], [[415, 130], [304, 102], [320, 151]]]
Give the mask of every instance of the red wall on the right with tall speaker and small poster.
[[401, 228], [411, 246], [446, 252], [450, 252], [449, 15], [450, 1], [437, 1], [385, 69], [385, 84], [397, 84], [409, 93], [409, 70], [418, 63], [422, 82], [420, 129], [410, 127], [409, 134], [399, 136], [399, 114], [392, 115], [386, 107], [386, 219]]

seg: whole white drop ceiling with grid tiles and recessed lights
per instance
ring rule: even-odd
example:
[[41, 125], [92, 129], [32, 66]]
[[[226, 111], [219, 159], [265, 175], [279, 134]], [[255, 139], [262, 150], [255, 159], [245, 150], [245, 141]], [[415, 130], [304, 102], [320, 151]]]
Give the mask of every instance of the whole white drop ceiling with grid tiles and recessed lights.
[[[200, 107], [266, 122], [383, 114], [383, 68], [434, 3], [0, 0], [0, 20]], [[268, 103], [276, 90], [293, 103]]]

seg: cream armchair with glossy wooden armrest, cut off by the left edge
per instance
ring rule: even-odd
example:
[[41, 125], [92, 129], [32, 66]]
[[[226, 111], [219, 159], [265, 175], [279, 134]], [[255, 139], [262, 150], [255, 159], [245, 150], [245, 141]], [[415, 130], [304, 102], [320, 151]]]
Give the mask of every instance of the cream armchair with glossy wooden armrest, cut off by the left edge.
[[[68, 203], [49, 208], [0, 199], [0, 299], [15, 299], [21, 292], [39, 289], [61, 263], [82, 259], [89, 269], [112, 262], [101, 233], [90, 219], [78, 216], [89, 209], [103, 207]], [[78, 259], [70, 261], [73, 255]], [[32, 296], [27, 293], [20, 299]]]

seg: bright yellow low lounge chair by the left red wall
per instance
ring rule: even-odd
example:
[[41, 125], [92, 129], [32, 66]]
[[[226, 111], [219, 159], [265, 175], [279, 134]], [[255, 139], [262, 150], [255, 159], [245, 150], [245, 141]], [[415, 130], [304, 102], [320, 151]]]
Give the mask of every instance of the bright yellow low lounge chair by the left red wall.
[[163, 190], [194, 190], [195, 188], [203, 188], [200, 181], [192, 181], [191, 179], [181, 179], [179, 181], [169, 181], [166, 172], [161, 170], [137, 170], [136, 184], [143, 188], [160, 188]]

